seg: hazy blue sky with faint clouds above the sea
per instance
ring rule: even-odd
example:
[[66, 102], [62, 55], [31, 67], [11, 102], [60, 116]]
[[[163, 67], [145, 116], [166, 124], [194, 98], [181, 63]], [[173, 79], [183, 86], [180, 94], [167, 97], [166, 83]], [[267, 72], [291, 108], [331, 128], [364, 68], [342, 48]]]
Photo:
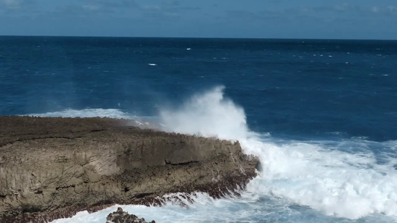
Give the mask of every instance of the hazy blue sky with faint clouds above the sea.
[[397, 39], [397, 0], [0, 0], [0, 35]]

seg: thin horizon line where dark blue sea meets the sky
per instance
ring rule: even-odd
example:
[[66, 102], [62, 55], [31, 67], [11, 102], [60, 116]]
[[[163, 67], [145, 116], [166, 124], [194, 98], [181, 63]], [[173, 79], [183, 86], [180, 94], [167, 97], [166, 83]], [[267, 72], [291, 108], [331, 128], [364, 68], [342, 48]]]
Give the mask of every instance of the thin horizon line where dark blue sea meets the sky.
[[83, 35], [0, 35], [0, 37], [85, 37], [85, 38], [195, 38], [195, 39], [263, 39], [263, 40], [372, 40], [372, 41], [397, 41], [397, 39], [349, 39], [349, 38], [269, 38], [269, 37], [161, 37], [161, 36], [83, 36]]

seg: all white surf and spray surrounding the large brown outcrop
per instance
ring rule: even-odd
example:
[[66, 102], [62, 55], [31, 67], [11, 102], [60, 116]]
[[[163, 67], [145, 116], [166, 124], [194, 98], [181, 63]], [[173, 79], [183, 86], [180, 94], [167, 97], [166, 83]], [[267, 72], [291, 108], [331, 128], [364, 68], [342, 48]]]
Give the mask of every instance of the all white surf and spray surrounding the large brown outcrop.
[[[218, 200], [198, 194], [189, 209], [121, 206], [123, 210], [168, 222], [395, 222], [397, 220], [397, 142], [362, 138], [291, 141], [249, 131], [243, 108], [224, 97], [223, 87], [196, 94], [174, 110], [161, 109], [166, 130], [239, 140], [247, 154], [259, 156], [261, 174], [241, 198]], [[31, 114], [32, 115], [32, 114]], [[134, 119], [120, 110], [65, 110], [39, 116]], [[384, 152], [374, 151], [382, 148]], [[86, 211], [54, 223], [105, 222], [119, 206]]]

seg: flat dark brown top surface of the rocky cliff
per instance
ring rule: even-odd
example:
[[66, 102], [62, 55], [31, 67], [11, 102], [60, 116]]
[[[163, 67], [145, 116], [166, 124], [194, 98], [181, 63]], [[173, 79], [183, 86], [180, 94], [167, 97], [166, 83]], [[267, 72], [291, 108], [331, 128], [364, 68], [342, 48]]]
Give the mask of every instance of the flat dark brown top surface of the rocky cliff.
[[[129, 137], [193, 137], [177, 133], [166, 133], [156, 129], [141, 129], [134, 126], [134, 124], [136, 124], [134, 120], [107, 117], [71, 118], [0, 115], [0, 151], [6, 144], [17, 141], [43, 138], [86, 138], [93, 135], [93, 133], [95, 133], [94, 138], [98, 138], [98, 133], [102, 135], [102, 140], [104, 141], [111, 139], [119, 133], [123, 133]], [[204, 137], [196, 138], [204, 139]]]

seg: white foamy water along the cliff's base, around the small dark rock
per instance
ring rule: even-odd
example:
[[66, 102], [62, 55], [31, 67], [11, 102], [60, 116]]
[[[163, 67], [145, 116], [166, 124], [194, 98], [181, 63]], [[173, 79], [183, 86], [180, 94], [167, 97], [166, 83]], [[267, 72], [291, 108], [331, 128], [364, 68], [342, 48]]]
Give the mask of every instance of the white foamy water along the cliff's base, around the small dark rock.
[[[181, 200], [185, 199], [181, 198]], [[260, 217], [260, 212], [241, 208], [242, 206], [250, 206], [250, 203], [248, 200], [235, 197], [215, 200], [207, 194], [198, 193], [195, 196], [195, 202], [189, 204], [189, 209], [172, 204], [172, 202], [168, 202], [164, 207], [150, 208], [138, 205], [116, 205], [91, 214], [82, 211], [71, 218], [57, 219], [52, 223], [104, 223], [106, 216], [116, 211], [118, 207], [123, 208], [128, 213], [143, 217], [146, 221], [155, 220], [158, 223], [251, 222], [247, 220], [251, 219], [252, 216]]]

